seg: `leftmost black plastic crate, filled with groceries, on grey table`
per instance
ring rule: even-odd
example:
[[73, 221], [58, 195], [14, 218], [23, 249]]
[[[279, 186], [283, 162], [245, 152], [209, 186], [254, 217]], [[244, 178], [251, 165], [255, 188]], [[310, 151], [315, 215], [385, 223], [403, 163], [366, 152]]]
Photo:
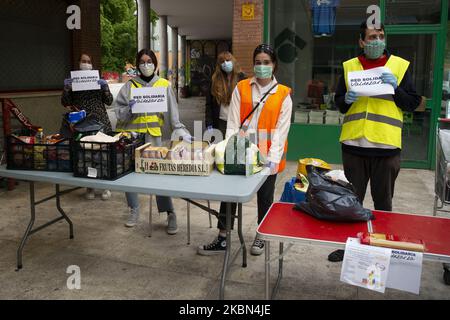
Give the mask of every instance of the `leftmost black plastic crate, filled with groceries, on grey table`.
[[6, 137], [6, 168], [72, 172], [71, 142], [63, 139], [55, 144], [26, 143], [17, 135]]

